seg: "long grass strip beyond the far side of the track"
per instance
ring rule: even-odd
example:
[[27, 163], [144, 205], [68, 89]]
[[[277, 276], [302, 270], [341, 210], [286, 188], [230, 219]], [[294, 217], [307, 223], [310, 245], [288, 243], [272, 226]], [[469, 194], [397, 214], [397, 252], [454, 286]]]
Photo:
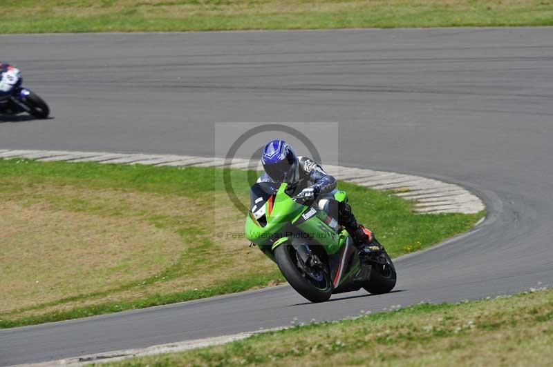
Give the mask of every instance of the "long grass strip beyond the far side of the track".
[[550, 26], [550, 0], [6, 0], [0, 32]]

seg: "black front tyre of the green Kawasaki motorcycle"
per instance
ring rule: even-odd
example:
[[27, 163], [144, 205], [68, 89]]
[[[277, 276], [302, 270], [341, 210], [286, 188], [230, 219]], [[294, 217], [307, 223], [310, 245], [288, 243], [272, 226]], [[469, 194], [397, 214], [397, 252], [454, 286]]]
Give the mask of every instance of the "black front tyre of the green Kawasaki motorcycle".
[[274, 250], [274, 258], [282, 275], [292, 288], [309, 301], [328, 301], [332, 295], [332, 281], [330, 281], [328, 266], [325, 264], [326, 268], [317, 273], [320, 279], [317, 280], [297, 266], [296, 253], [294, 247], [289, 244], [282, 244]]

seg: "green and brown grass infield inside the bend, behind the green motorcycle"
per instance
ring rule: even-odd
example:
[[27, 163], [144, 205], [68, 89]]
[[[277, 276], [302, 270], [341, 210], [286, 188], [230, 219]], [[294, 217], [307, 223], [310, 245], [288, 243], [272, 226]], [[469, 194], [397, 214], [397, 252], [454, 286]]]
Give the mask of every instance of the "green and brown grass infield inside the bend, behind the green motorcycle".
[[[247, 172], [232, 176], [247, 201]], [[220, 178], [216, 168], [0, 160], [0, 327], [281, 283], [277, 266], [247, 240], [216, 237], [244, 226]], [[339, 187], [393, 257], [482, 217], [415, 215], [391, 192]]]

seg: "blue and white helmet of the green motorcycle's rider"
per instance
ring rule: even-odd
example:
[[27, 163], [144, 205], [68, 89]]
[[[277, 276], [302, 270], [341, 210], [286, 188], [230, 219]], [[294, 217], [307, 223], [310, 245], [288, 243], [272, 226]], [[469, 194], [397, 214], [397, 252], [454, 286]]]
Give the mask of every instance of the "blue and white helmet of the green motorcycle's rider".
[[263, 149], [261, 163], [273, 181], [292, 183], [297, 157], [292, 147], [285, 141], [278, 139], [269, 141]]

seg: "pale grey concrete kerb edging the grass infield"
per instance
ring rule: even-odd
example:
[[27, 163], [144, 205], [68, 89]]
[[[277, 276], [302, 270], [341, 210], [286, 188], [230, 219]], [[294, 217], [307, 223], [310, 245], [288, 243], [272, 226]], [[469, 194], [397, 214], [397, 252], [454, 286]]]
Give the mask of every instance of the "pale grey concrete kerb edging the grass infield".
[[[223, 167], [225, 159], [187, 155], [147, 155], [142, 153], [70, 152], [64, 150], [0, 150], [0, 158], [28, 158], [37, 161], [68, 161], [113, 164], [144, 164], [174, 167]], [[245, 169], [247, 159], [233, 159], [232, 168]], [[465, 213], [473, 214], [485, 209], [479, 197], [456, 184], [437, 179], [403, 175], [395, 172], [324, 166], [326, 172], [342, 181], [376, 190], [391, 190], [393, 195], [415, 201], [420, 214]]]

